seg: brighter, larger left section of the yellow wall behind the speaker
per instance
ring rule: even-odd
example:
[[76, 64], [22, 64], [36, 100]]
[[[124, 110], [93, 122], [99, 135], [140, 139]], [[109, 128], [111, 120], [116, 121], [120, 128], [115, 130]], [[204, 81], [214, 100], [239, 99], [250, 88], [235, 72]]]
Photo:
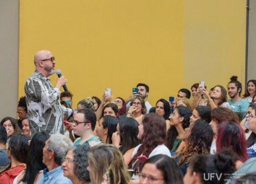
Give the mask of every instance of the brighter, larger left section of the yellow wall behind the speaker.
[[183, 20], [183, 0], [20, 0], [19, 96], [48, 49], [75, 104], [106, 87], [126, 98], [139, 82], [152, 105], [168, 99], [183, 82]]

